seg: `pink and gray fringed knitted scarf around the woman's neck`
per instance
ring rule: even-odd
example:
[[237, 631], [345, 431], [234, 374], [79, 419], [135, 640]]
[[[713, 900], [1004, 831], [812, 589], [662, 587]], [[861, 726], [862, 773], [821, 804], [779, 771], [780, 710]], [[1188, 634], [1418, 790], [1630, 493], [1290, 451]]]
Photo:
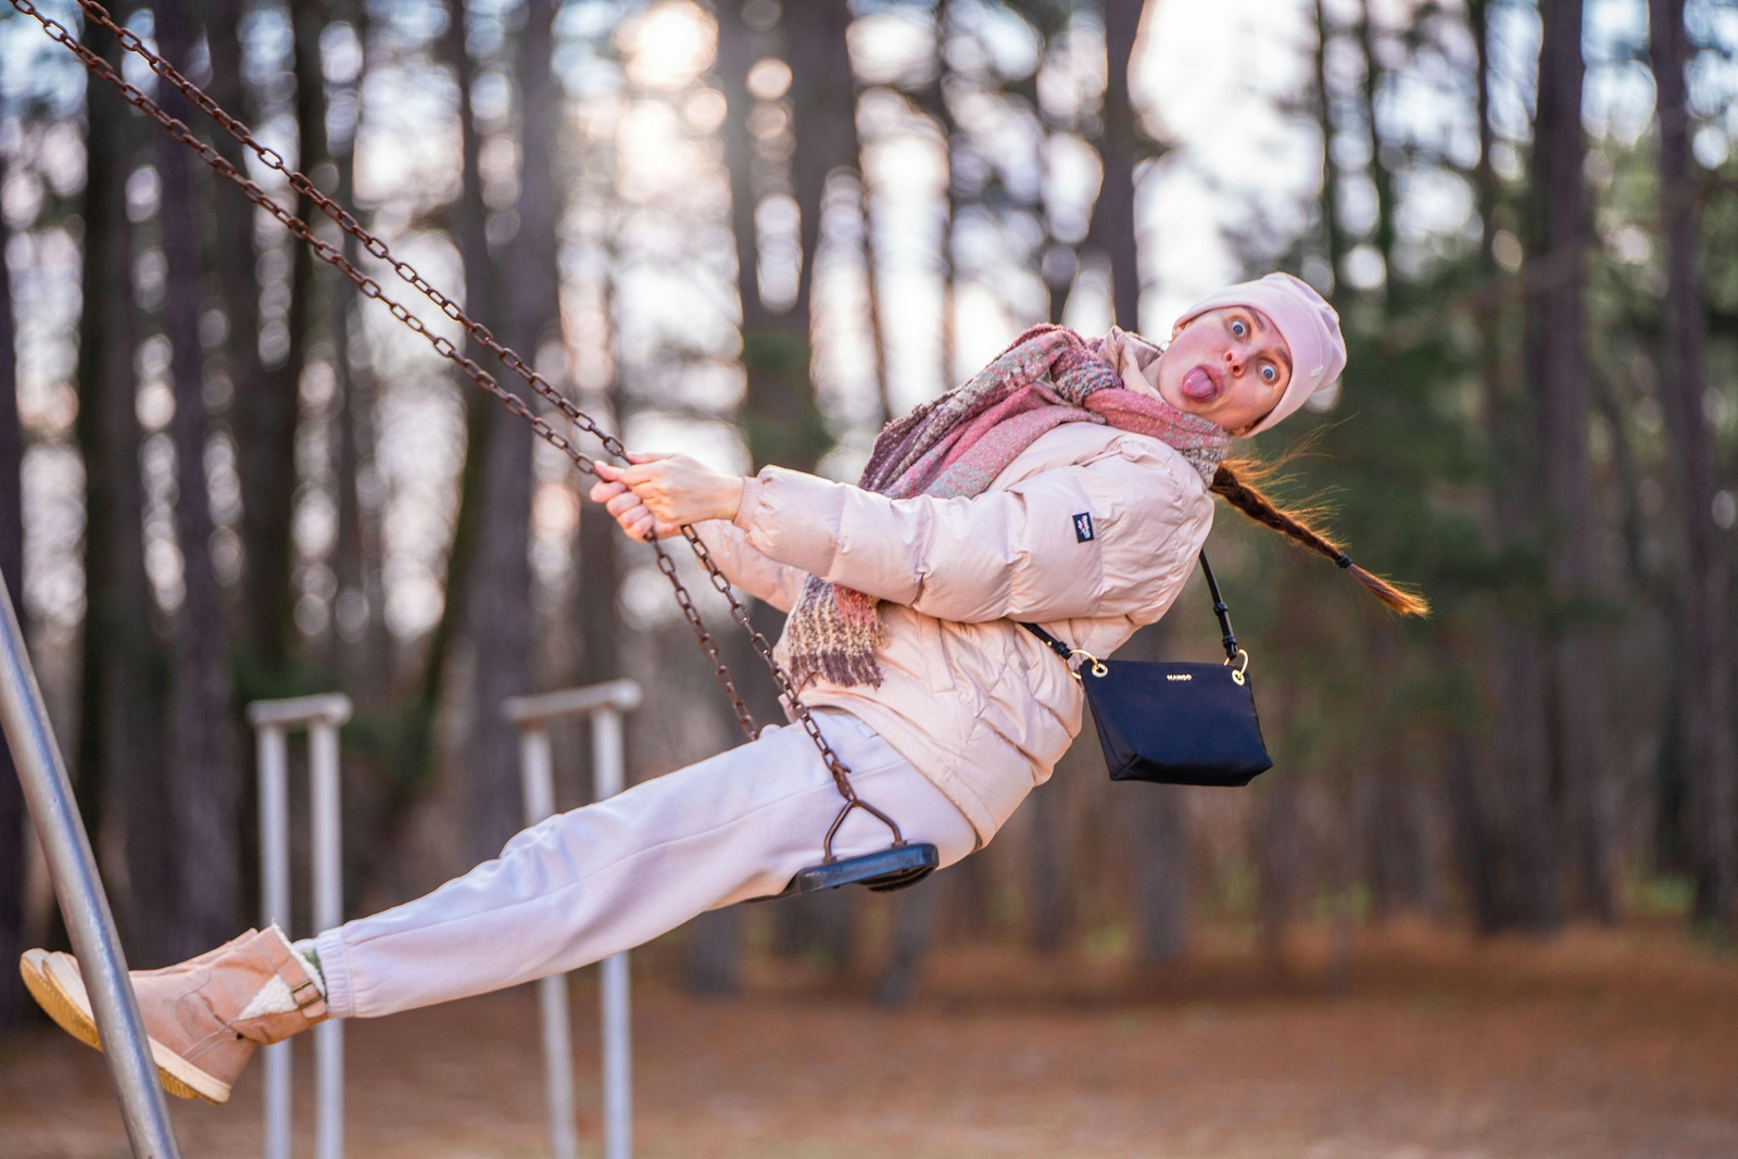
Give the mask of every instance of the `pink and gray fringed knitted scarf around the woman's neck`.
[[[965, 386], [886, 424], [857, 485], [892, 499], [980, 495], [1039, 434], [1064, 422], [1107, 422], [1163, 440], [1204, 481], [1213, 480], [1231, 443], [1213, 422], [1158, 394], [1126, 389], [1098, 341], [1041, 325]], [[798, 688], [820, 676], [838, 685], [881, 685], [874, 650], [886, 627], [878, 603], [808, 577], [779, 641]]]

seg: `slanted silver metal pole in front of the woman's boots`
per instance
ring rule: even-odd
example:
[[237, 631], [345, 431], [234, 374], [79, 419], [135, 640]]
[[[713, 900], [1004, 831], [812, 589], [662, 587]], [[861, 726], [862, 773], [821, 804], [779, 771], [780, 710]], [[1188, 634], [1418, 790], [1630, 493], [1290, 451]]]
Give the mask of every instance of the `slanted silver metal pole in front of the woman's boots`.
[[[0, 725], [54, 878], [66, 933], [78, 954], [97, 1034], [103, 1036], [103, 1056], [120, 1096], [127, 1140], [139, 1159], [179, 1159], [181, 1149], [169, 1126], [169, 1105], [156, 1083], [156, 1063], [146, 1048], [139, 1003], [127, 980], [127, 959], [115, 935], [115, 917], [103, 893], [90, 839], [78, 817], [61, 749], [49, 728], [49, 712], [42, 704], [42, 690], [30, 667], [24, 634], [3, 577], [0, 605]], [[3, 968], [10, 970], [10, 964]]]

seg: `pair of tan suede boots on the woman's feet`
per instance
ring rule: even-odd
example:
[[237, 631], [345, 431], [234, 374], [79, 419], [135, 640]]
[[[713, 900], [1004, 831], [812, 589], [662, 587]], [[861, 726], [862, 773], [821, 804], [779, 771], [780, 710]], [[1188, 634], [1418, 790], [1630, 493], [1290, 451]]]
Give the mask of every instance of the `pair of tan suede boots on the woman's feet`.
[[[103, 1050], [78, 961], [28, 950], [19, 971], [31, 997], [61, 1029]], [[198, 957], [134, 970], [144, 1032], [163, 1089], [179, 1098], [229, 1098], [255, 1046], [325, 1022], [325, 996], [308, 961], [276, 926], [249, 930]]]

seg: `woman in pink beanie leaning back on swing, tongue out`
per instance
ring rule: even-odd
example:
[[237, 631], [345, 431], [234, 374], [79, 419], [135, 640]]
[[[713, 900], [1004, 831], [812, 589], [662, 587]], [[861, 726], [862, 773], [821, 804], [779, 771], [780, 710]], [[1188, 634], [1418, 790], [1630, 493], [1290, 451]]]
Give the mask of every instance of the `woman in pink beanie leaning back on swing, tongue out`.
[[[890, 424], [857, 487], [683, 455], [598, 464], [591, 497], [634, 537], [693, 525], [733, 584], [789, 612], [779, 655], [855, 789], [949, 865], [1043, 784], [1081, 725], [1065, 666], [1018, 620], [1093, 655], [1164, 615], [1217, 492], [1340, 566], [1350, 560], [1225, 467], [1232, 438], [1345, 367], [1338, 318], [1290, 275], [1189, 309], [1161, 348], [1112, 328], [1029, 330], [970, 382]], [[1423, 605], [1363, 568], [1403, 612]], [[839, 794], [801, 730], [551, 817], [396, 909], [290, 944], [249, 931], [134, 971], [163, 1086], [224, 1102], [255, 1044], [575, 970], [702, 911], [779, 893], [813, 864]], [[834, 853], [886, 846], [853, 810]], [[70, 954], [21, 963], [36, 1001], [97, 1043]]]

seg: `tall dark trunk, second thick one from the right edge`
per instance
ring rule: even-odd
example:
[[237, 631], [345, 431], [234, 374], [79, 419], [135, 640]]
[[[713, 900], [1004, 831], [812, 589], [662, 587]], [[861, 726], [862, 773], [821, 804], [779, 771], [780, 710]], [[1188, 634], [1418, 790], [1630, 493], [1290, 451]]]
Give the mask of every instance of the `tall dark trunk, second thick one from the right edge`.
[[[1582, 176], [1582, 0], [1542, 0], [1538, 106], [1533, 129], [1529, 301], [1526, 370], [1536, 398], [1543, 460], [1543, 514], [1554, 596], [1568, 606], [1597, 593], [1594, 480], [1587, 457], [1587, 321], [1582, 261], [1589, 207]], [[1578, 904], [1601, 921], [1616, 917], [1616, 853], [1606, 754], [1604, 650], [1571, 615], [1545, 653], [1547, 723], [1571, 879]]]

